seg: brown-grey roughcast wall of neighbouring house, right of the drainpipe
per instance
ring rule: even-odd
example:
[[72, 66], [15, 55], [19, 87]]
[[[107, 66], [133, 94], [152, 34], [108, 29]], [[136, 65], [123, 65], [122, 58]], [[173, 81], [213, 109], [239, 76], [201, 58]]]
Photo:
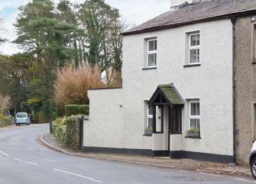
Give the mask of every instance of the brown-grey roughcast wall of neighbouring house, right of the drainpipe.
[[236, 161], [248, 164], [252, 145], [252, 104], [256, 102], [256, 65], [252, 64], [251, 16], [238, 18], [235, 30], [235, 154]]

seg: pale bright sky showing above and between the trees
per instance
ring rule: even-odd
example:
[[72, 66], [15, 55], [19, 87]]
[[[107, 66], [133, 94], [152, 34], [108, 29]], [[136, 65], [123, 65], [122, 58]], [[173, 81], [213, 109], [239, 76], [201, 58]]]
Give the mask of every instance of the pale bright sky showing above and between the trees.
[[[53, 2], [59, 1], [53, 0]], [[0, 32], [2, 37], [8, 40], [15, 39], [15, 27], [12, 24], [15, 23], [18, 7], [28, 2], [30, 0], [0, 0], [0, 17], [4, 19], [3, 24], [5, 27], [5, 30]], [[83, 2], [83, 0], [70, 0], [70, 2]], [[137, 25], [170, 10], [170, 0], [105, 0], [105, 2], [112, 7], [118, 8], [126, 21]], [[11, 55], [19, 51], [18, 47], [11, 43], [5, 43], [0, 46], [0, 52], [4, 54]]]

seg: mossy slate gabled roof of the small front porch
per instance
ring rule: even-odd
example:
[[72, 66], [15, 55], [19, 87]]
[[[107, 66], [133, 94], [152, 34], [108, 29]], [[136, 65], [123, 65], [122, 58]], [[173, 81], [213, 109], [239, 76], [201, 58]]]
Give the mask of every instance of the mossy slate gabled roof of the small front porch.
[[[164, 100], [161, 100], [162, 98], [164, 98]], [[157, 90], [154, 92], [151, 100], [149, 100], [149, 104], [154, 103], [183, 105], [185, 102], [173, 84], [161, 84], [158, 85]]]

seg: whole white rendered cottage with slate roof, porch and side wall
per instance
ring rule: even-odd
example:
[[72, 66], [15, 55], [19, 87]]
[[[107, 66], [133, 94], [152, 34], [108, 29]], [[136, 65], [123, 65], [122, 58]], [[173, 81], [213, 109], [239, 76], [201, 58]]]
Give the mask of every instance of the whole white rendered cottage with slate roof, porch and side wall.
[[85, 151], [234, 161], [231, 20], [255, 1], [184, 2], [123, 33], [123, 86], [89, 90]]

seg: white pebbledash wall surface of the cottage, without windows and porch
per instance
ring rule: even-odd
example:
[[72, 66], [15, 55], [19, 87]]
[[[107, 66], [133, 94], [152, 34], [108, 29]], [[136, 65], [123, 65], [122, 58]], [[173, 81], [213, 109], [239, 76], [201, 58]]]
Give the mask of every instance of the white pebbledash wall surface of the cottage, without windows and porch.
[[[186, 33], [200, 32], [199, 66], [185, 68]], [[144, 68], [145, 39], [157, 37], [157, 68]], [[90, 115], [84, 125], [86, 151], [148, 154], [164, 150], [157, 135], [144, 136], [144, 100], [158, 84], [173, 83], [186, 104], [183, 135], [171, 137], [170, 151], [186, 157], [233, 157], [232, 22], [229, 19], [190, 24], [123, 37], [123, 87], [89, 90]], [[201, 139], [185, 138], [188, 100], [199, 99]], [[177, 142], [175, 141], [177, 140]], [[158, 148], [157, 148], [157, 145]], [[140, 152], [142, 151], [142, 152]], [[200, 154], [201, 153], [201, 154]]]

